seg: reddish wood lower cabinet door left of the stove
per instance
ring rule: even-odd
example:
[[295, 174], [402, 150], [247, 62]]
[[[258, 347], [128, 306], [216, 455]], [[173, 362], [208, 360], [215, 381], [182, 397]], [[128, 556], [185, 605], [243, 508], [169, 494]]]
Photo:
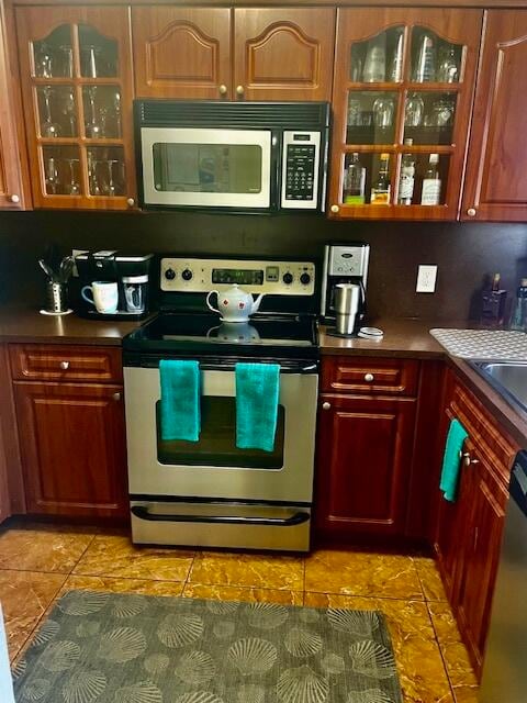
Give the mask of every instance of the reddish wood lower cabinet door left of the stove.
[[123, 388], [14, 382], [29, 513], [126, 514]]

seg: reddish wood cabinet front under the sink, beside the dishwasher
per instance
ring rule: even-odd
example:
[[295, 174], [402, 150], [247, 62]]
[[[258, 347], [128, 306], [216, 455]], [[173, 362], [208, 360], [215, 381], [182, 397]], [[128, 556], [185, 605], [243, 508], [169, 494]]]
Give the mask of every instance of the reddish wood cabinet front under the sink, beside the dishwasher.
[[508, 500], [507, 480], [517, 447], [450, 373], [440, 431], [444, 437], [453, 417], [463, 424], [469, 438], [463, 445], [456, 502], [439, 499], [435, 548], [448, 599], [480, 676]]

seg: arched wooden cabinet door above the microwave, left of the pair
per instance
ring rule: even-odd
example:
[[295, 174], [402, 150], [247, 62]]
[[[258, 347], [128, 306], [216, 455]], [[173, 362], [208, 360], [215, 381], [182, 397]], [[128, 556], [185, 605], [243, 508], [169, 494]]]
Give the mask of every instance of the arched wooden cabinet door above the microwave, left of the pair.
[[132, 8], [138, 98], [228, 99], [231, 10]]

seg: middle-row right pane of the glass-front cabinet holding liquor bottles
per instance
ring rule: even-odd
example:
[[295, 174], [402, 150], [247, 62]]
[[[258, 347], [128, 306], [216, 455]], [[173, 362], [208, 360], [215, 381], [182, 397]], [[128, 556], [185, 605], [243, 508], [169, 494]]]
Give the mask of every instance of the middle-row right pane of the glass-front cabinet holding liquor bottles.
[[414, 144], [452, 143], [456, 118], [455, 92], [414, 92], [406, 96], [404, 136]]

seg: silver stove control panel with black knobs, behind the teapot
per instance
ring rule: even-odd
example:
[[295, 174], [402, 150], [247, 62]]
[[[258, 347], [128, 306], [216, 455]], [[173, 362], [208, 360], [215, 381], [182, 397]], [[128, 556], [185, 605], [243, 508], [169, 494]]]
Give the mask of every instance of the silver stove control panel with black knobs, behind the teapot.
[[160, 284], [165, 292], [208, 293], [226, 290], [233, 283], [248, 293], [313, 295], [315, 265], [312, 261], [161, 259]]

